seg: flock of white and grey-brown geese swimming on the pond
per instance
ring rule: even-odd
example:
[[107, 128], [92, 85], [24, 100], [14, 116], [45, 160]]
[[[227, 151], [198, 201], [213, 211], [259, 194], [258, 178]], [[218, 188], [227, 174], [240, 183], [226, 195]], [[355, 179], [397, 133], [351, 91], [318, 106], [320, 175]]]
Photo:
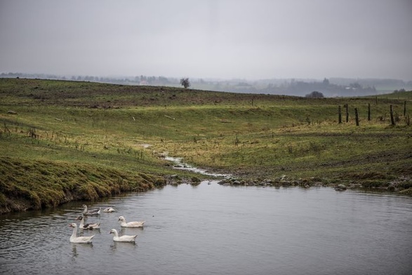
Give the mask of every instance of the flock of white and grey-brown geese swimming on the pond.
[[[77, 220], [80, 220], [79, 229], [81, 230], [93, 230], [93, 229], [100, 229], [100, 222], [95, 224], [85, 224], [84, 217], [85, 216], [93, 216], [93, 215], [100, 215], [101, 208], [96, 210], [88, 210], [86, 204], [83, 205], [84, 211], [80, 217], [77, 217]], [[114, 212], [114, 208], [105, 208], [103, 212], [111, 213]], [[120, 216], [118, 222], [120, 222], [121, 227], [143, 227], [145, 222], [126, 222], [126, 218], [124, 216]], [[73, 227], [72, 236], [70, 236], [71, 243], [91, 243], [92, 239], [95, 235], [92, 236], [77, 236], [77, 224], [71, 223], [69, 227]], [[113, 234], [113, 241], [122, 241], [128, 243], [134, 243], [136, 237], [138, 235], [123, 235], [119, 236], [119, 233], [116, 229], [111, 229], [109, 234]]]

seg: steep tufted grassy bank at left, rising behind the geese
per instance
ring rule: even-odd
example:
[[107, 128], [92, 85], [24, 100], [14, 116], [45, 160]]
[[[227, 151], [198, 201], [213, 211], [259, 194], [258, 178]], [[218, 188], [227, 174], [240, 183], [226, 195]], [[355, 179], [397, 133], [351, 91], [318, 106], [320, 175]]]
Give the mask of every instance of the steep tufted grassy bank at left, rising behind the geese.
[[58, 206], [73, 200], [92, 201], [121, 192], [143, 192], [166, 184], [163, 177], [86, 163], [0, 159], [0, 203], [11, 210]]

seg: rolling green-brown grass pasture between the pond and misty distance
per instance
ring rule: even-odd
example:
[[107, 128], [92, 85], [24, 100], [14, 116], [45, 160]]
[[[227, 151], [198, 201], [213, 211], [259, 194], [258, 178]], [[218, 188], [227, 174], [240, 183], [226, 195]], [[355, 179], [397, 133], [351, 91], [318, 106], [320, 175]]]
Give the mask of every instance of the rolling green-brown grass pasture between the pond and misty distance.
[[244, 183], [411, 187], [412, 92], [309, 99], [0, 79], [0, 97], [1, 208], [17, 208], [12, 201], [20, 198], [22, 208], [39, 208], [154, 188], [176, 173], [192, 177], [164, 154]]

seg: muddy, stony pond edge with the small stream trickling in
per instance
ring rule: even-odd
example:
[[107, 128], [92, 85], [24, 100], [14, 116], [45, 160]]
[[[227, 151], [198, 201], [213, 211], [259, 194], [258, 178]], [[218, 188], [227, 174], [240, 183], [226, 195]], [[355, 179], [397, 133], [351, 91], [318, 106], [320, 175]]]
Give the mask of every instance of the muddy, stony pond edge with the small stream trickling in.
[[[362, 182], [328, 182], [326, 179], [322, 178], [309, 178], [309, 179], [294, 179], [293, 177], [289, 177], [288, 175], [281, 175], [280, 177], [273, 177], [273, 178], [262, 178], [253, 175], [246, 177], [236, 176], [229, 173], [222, 173], [222, 171], [215, 171], [208, 170], [206, 168], [196, 168], [193, 166], [184, 163], [181, 158], [170, 158], [166, 159], [168, 161], [172, 161], [174, 163], [173, 168], [176, 170], [189, 170], [194, 173], [199, 174], [199, 177], [193, 175], [192, 177], [180, 177], [178, 174], [173, 175], [165, 175], [163, 180], [157, 180], [157, 182], [148, 183], [145, 186], [139, 186], [138, 188], [134, 187], [125, 187], [117, 188], [112, 186], [116, 189], [116, 192], [109, 192], [107, 194], [100, 194], [98, 198], [95, 199], [86, 199], [84, 194], [81, 192], [81, 189], [74, 190], [74, 189], [66, 189], [63, 199], [55, 201], [55, 203], [51, 205], [36, 205], [33, 202], [32, 194], [27, 196], [27, 194], [18, 194], [18, 193], [8, 193], [4, 194], [3, 196], [4, 201], [2, 201], [2, 206], [0, 209], [0, 215], [4, 213], [11, 213], [11, 212], [22, 212], [27, 210], [38, 210], [41, 208], [53, 208], [55, 206], [62, 205], [64, 203], [70, 201], [95, 201], [96, 199], [103, 199], [110, 197], [114, 194], [125, 193], [125, 192], [147, 192], [149, 189], [157, 189], [162, 188], [166, 185], [181, 185], [181, 184], [189, 184], [189, 185], [199, 185], [201, 182], [204, 181], [214, 181], [218, 182], [219, 185], [224, 186], [244, 186], [244, 187], [300, 187], [309, 189], [312, 187], [329, 187], [335, 189], [337, 192], [345, 192], [347, 189], [354, 189], [359, 190], [362, 192], [373, 192], [373, 193], [385, 193], [385, 194], [401, 194], [401, 195], [408, 195], [412, 196], [412, 188], [408, 187], [411, 182], [411, 179], [408, 177], [400, 177], [397, 180], [392, 180], [387, 182], [385, 185], [376, 185], [376, 186], [368, 186], [364, 185]], [[116, 184], [114, 184], [116, 185]], [[408, 187], [408, 188], [406, 188]], [[55, 190], [54, 190], [55, 191]]]

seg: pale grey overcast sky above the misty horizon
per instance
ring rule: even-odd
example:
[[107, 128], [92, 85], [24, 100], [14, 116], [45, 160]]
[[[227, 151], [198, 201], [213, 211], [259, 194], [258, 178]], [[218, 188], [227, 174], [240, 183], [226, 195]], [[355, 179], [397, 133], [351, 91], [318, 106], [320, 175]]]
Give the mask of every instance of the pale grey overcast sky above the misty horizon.
[[412, 80], [412, 0], [0, 0], [0, 72]]

